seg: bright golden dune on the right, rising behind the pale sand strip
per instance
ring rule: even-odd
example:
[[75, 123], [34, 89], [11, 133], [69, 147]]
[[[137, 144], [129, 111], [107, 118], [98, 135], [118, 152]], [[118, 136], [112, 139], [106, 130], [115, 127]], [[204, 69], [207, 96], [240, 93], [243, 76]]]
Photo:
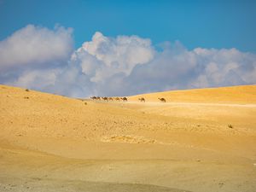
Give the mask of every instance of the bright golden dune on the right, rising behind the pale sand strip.
[[129, 98], [131, 101], [137, 101], [138, 97], [144, 97], [148, 102], [158, 102], [159, 97], [164, 97], [166, 102], [256, 103], [256, 85], [172, 90], [130, 96]]

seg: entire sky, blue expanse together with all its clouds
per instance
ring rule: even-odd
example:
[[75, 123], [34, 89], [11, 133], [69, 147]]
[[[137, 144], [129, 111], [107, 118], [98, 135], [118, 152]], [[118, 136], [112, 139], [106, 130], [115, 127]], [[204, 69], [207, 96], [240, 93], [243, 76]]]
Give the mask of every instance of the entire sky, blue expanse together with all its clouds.
[[256, 84], [256, 1], [0, 0], [0, 84], [65, 96]]

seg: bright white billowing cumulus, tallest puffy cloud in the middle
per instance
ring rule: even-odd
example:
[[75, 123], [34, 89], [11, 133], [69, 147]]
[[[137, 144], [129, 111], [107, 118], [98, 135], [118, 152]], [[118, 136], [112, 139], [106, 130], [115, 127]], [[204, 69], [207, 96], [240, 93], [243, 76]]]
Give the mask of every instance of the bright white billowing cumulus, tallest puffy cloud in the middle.
[[152, 60], [154, 49], [149, 39], [137, 36], [107, 38], [96, 32], [92, 41], [85, 42], [72, 57], [82, 65], [83, 73], [93, 82], [102, 82], [116, 73], [128, 76], [137, 65]]

